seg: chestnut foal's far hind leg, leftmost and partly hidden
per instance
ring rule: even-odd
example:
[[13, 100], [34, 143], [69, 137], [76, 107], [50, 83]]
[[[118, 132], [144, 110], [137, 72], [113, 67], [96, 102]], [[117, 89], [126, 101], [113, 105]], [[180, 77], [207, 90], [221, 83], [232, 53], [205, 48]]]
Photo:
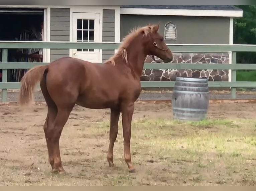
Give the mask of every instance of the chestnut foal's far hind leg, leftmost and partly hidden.
[[47, 144], [48, 160], [51, 165], [51, 168], [53, 168], [54, 160], [53, 160], [53, 147], [51, 143], [51, 135], [48, 129], [49, 129], [49, 126], [53, 124], [56, 115], [57, 115], [56, 106], [55, 107], [48, 106], [48, 112], [47, 112], [46, 120], [43, 126], [43, 130], [44, 130], [45, 140]]

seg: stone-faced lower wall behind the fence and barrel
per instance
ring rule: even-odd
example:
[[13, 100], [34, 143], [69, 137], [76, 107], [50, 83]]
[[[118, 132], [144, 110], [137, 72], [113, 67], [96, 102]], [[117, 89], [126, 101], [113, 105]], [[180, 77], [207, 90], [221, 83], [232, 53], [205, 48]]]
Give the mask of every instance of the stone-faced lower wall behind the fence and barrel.
[[[200, 64], [229, 64], [228, 53], [173, 53], [171, 63], [200, 63]], [[155, 59], [160, 63], [160, 59]], [[151, 56], [147, 56], [146, 63], [155, 63]], [[141, 81], [175, 81], [176, 77], [205, 78], [209, 81], [229, 81], [228, 70], [170, 70], [144, 69]]]

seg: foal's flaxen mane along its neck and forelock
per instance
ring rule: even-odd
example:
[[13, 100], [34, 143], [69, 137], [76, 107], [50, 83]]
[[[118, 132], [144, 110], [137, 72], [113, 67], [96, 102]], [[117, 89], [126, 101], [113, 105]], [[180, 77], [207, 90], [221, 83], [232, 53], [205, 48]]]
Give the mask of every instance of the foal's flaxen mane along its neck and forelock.
[[152, 32], [153, 27], [151, 24], [144, 26], [144, 27], [136, 27], [130, 31], [128, 35], [126, 35], [122, 41], [123, 43], [119, 46], [117, 53], [110, 57], [107, 61], [105, 61], [105, 64], [110, 62], [113, 66], [115, 66], [115, 58], [122, 55], [122, 58], [125, 59], [125, 62], [128, 63], [127, 60], [127, 52], [126, 49], [129, 46], [130, 42], [136, 38], [141, 32], [143, 32], [143, 37], [147, 36], [149, 33]]

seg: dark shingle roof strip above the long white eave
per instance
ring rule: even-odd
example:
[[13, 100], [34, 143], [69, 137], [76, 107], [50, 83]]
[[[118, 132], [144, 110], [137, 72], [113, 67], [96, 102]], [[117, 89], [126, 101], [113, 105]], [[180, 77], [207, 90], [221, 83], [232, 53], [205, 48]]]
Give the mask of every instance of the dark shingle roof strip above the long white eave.
[[242, 10], [233, 5], [121, 5], [121, 8], [144, 8], [144, 9], [196, 9], [196, 10]]

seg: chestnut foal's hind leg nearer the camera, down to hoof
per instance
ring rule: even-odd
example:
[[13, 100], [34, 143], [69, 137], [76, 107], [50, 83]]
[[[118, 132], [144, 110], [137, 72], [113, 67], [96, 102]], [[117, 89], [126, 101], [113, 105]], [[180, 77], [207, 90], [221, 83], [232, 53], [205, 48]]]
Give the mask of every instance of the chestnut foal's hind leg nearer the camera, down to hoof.
[[63, 169], [61, 164], [61, 157], [60, 157], [60, 151], [59, 151], [59, 138], [60, 138], [62, 129], [66, 124], [69, 118], [70, 112], [72, 111], [74, 105], [75, 104], [69, 107], [58, 107], [57, 116], [50, 129], [51, 141], [53, 146], [53, 158], [54, 158], [54, 164], [52, 169], [53, 173], [55, 172], [65, 173], [65, 170]]

